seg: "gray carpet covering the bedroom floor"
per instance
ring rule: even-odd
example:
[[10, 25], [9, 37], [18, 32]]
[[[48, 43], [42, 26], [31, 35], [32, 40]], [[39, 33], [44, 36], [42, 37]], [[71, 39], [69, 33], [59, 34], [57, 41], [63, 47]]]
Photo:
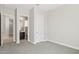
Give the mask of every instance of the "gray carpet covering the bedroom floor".
[[68, 48], [51, 42], [40, 42], [36, 45], [30, 42], [21, 44], [8, 43], [0, 47], [0, 54], [78, 54], [79, 50]]

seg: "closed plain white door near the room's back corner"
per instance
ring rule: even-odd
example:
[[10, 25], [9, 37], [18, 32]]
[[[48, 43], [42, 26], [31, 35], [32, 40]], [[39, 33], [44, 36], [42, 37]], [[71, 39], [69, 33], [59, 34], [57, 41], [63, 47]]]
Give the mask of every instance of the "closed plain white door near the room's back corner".
[[40, 42], [44, 40], [44, 16], [38, 14], [35, 19], [35, 41]]

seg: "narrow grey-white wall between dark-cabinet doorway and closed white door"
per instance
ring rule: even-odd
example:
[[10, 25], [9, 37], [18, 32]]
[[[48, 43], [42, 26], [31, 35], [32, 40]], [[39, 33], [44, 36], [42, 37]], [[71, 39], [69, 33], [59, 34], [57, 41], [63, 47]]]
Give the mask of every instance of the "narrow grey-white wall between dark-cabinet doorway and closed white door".
[[34, 42], [34, 8], [29, 13], [29, 41]]

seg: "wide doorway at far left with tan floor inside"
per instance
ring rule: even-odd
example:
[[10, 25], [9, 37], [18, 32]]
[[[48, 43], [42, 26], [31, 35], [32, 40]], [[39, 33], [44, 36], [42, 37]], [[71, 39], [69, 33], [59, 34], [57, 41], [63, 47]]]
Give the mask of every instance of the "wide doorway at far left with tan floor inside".
[[13, 42], [13, 18], [7, 15], [2, 15], [2, 17], [2, 43], [6, 45]]

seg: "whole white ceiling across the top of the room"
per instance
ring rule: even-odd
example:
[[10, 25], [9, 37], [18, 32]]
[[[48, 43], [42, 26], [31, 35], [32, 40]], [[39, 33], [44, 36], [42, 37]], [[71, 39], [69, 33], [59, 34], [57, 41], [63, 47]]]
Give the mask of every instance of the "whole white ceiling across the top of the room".
[[[25, 10], [30, 10], [31, 8], [33, 8], [34, 6], [36, 6], [36, 4], [1, 4], [0, 6], [2, 7], [8, 7], [8, 8], [23, 8]], [[39, 9], [42, 11], [42, 12], [46, 12], [46, 11], [49, 11], [49, 10], [53, 10], [57, 7], [60, 7], [62, 6], [62, 4], [39, 4]]]

